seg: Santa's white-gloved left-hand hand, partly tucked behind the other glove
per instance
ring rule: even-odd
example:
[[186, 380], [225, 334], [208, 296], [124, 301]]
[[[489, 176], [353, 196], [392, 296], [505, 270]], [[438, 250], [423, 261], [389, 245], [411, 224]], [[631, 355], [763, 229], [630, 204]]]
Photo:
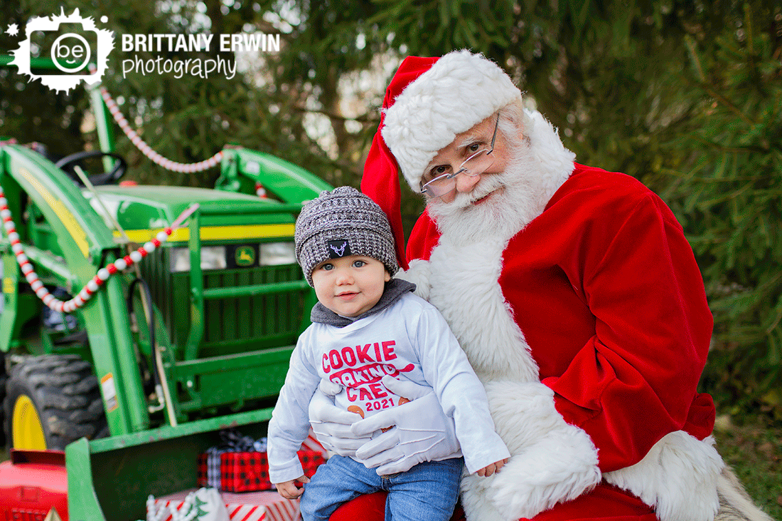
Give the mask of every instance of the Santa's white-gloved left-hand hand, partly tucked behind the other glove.
[[321, 380], [310, 400], [310, 426], [327, 451], [340, 456], [354, 456], [356, 450], [371, 437], [356, 436], [350, 431], [350, 426], [361, 416], [335, 406], [334, 395], [341, 390], [339, 384]]

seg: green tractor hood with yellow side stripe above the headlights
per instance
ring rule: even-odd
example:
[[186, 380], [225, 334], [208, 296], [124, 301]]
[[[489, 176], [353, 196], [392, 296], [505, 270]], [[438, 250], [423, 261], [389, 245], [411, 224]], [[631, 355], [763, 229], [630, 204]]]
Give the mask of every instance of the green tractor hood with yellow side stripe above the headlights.
[[[170, 225], [192, 203], [198, 203], [203, 241], [272, 239], [292, 237], [295, 219], [289, 205], [274, 199], [221, 190], [182, 188], [181, 186], [97, 186], [100, 200], [84, 191], [91, 207], [103, 217], [106, 226], [121, 233], [119, 223], [135, 243], [151, 239]], [[279, 212], [273, 210], [280, 207]], [[171, 235], [170, 242], [184, 242], [189, 237], [188, 222]]]

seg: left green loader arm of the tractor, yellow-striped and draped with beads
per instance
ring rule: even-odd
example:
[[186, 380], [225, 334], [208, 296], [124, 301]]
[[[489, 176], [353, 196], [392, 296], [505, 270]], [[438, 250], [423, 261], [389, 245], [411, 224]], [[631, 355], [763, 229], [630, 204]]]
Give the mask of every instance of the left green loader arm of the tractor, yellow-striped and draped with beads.
[[[116, 258], [117, 243], [102, 217], [74, 182], [42, 156], [23, 146], [0, 148], [0, 185], [20, 240], [30, 250], [30, 260], [38, 260], [37, 271], [45, 284], [63, 286], [75, 294], [95, 277], [99, 268]], [[5, 255], [13, 258], [7, 237], [3, 240]], [[14, 273], [14, 289], [18, 292], [27, 281], [18, 265]], [[99, 380], [108, 376], [116, 382], [117, 407], [106, 412], [109, 427], [118, 434], [145, 429], [149, 415], [119, 278], [109, 278], [105, 287], [95, 293], [94, 300], [77, 313], [88, 325], [95, 376]], [[41, 306], [38, 300], [30, 303]], [[16, 339], [9, 334], [6, 321], [0, 327], [0, 350], [7, 351]]]

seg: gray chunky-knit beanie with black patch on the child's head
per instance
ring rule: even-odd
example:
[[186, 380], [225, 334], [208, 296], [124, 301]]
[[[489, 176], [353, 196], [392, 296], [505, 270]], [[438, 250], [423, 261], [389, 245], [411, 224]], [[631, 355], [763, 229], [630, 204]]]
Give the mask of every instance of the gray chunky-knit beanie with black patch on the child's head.
[[396, 250], [388, 217], [368, 196], [350, 186], [321, 192], [296, 219], [296, 260], [312, 286], [312, 270], [324, 260], [364, 255], [396, 273]]

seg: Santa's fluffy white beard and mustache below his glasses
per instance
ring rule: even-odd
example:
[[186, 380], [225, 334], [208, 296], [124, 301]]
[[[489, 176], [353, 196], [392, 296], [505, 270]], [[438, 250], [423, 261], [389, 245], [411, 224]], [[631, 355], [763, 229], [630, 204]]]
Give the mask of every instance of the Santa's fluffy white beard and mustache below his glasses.
[[[518, 143], [515, 149], [505, 170], [482, 175], [472, 192], [456, 192], [450, 203], [429, 202], [429, 214], [443, 238], [456, 244], [487, 237], [508, 240], [540, 215], [554, 193], [547, 189], [551, 183], [546, 181], [552, 173], [541, 165], [527, 142]], [[475, 204], [484, 196], [488, 199]]]

